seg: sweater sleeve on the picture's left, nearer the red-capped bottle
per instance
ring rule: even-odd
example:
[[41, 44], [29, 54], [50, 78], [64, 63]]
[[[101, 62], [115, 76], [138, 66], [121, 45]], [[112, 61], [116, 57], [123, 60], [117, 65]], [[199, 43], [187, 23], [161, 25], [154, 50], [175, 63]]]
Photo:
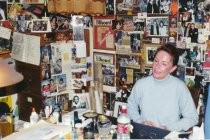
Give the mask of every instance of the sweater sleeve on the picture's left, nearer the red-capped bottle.
[[139, 90], [139, 81], [134, 85], [131, 94], [127, 101], [128, 115], [134, 122], [142, 122], [142, 117], [139, 113], [139, 102], [141, 101], [141, 93]]

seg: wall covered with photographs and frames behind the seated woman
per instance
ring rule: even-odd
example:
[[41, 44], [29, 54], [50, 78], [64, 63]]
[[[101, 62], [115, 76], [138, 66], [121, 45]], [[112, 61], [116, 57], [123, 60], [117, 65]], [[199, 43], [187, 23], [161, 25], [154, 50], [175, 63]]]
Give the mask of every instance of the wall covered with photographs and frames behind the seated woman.
[[[62, 2], [65, 5], [67, 1]], [[98, 2], [104, 11], [84, 13], [82, 5], [78, 6], [79, 10], [70, 6], [56, 12], [62, 9], [50, 0], [46, 5], [45, 1], [0, 1], [0, 5], [6, 5], [2, 7], [5, 18], [2, 16], [0, 29], [20, 33], [9, 37], [0, 35], [1, 50], [11, 50], [15, 59], [34, 63], [21, 57], [23, 52], [18, 49], [25, 42], [12, 43], [12, 40], [23, 34], [40, 37], [41, 49], [35, 52], [37, 58], [41, 57], [34, 64], [40, 62], [43, 87], [40, 90], [47, 103], [57, 102], [58, 95], [64, 95], [67, 100], [81, 97], [82, 105], [77, 100], [73, 105], [84, 107], [86, 100], [85, 108], [88, 108], [91, 99], [86, 93], [98, 81], [103, 85], [99, 91], [103, 113], [116, 115], [114, 109], [121, 102], [126, 103], [133, 84], [151, 74], [156, 49], [164, 43], [172, 43], [179, 50], [176, 76], [188, 87], [205, 91], [210, 80], [210, 15], [203, 0]], [[83, 93], [84, 96], [77, 95]]]

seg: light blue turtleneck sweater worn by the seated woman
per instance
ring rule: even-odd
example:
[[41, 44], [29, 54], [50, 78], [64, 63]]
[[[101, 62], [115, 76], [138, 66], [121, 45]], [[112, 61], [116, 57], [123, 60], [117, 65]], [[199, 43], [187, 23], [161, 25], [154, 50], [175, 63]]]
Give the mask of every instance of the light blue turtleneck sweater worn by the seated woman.
[[171, 131], [186, 131], [198, 123], [191, 93], [183, 81], [171, 75], [163, 80], [153, 76], [138, 80], [127, 107], [131, 120], [152, 121]]

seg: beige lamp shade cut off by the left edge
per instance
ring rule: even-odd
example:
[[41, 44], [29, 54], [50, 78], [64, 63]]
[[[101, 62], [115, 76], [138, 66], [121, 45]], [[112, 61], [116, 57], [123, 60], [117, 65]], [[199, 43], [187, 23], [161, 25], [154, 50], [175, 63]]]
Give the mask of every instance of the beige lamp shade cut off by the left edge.
[[22, 74], [18, 73], [5, 60], [0, 59], [0, 87], [14, 85], [22, 80]]

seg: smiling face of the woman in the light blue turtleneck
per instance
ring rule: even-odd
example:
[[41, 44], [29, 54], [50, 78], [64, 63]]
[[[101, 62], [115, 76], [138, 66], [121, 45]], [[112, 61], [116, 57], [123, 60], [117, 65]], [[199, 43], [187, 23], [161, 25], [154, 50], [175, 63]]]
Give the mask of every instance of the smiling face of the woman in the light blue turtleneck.
[[176, 66], [173, 66], [173, 60], [170, 54], [165, 51], [159, 51], [154, 58], [152, 65], [152, 75], [154, 78], [161, 80], [173, 72]]

